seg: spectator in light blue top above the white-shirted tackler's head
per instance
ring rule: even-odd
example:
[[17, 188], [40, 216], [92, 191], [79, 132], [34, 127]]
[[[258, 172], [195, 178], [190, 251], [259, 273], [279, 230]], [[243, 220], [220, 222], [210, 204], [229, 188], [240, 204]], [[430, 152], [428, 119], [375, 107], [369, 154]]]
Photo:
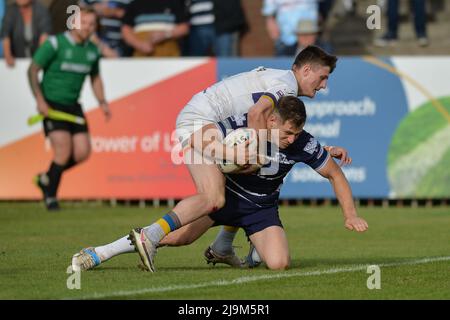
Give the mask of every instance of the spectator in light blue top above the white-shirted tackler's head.
[[264, 0], [266, 28], [275, 43], [276, 56], [294, 56], [297, 24], [301, 19], [319, 20], [318, 0]]

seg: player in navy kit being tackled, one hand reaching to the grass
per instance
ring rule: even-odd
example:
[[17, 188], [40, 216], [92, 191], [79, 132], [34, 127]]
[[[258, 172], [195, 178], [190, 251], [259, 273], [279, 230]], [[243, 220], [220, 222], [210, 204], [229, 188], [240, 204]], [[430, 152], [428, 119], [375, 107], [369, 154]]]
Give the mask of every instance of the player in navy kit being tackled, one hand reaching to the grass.
[[[273, 166], [272, 162], [276, 162], [273, 167], [277, 168], [277, 171], [268, 175], [263, 175], [260, 171], [246, 175], [225, 175], [227, 200], [225, 206], [170, 233], [160, 242], [160, 246], [190, 244], [214, 225], [241, 227], [269, 269], [286, 269], [290, 263], [290, 256], [286, 234], [278, 215], [278, 200], [284, 177], [298, 162], [309, 165], [329, 179], [342, 208], [346, 228], [358, 232], [367, 230], [367, 222], [357, 215], [351, 189], [342, 170], [330, 159], [330, 153], [303, 130], [305, 121], [303, 102], [292, 96], [282, 97], [267, 120], [269, 137], [267, 156], [271, 159], [271, 163], [265, 166]], [[217, 138], [221, 138], [227, 134], [227, 128], [238, 129], [247, 125], [247, 114], [244, 114], [229, 117], [217, 124], [206, 125], [204, 130], [212, 130]], [[270, 141], [272, 131], [278, 132], [277, 141]], [[204, 150], [213, 143], [211, 141], [209, 134], [208, 141], [196, 143], [194, 140], [192, 144]], [[276, 144], [278, 148], [271, 148], [270, 144]], [[274, 149], [276, 151], [272, 154]], [[148, 269], [147, 265], [152, 262], [146, 260], [147, 255], [138, 247], [139, 242], [136, 248], [135, 245], [136, 243], [130, 244], [124, 237], [105, 246], [86, 248], [73, 257], [72, 266], [75, 270], [87, 270], [115, 255], [137, 250]], [[239, 259], [234, 257], [237, 259], [236, 265], [239, 265]], [[151, 269], [154, 270], [155, 266], [152, 265]]]

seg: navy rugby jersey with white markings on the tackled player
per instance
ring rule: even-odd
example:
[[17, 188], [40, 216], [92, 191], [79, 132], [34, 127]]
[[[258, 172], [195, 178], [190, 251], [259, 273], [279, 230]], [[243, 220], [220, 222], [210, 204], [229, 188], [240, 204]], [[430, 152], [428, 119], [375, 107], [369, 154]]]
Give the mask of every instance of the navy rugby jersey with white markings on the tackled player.
[[[247, 127], [247, 114], [231, 116], [216, 124], [225, 137], [230, 130]], [[302, 162], [314, 170], [320, 170], [330, 158], [328, 152], [311, 134], [303, 130], [299, 137], [286, 149], [274, 148], [272, 155], [271, 143], [267, 142], [267, 155], [270, 163], [250, 174], [226, 174], [226, 188], [258, 205], [273, 205], [278, 201], [284, 177], [292, 167]], [[274, 170], [276, 169], [276, 170]], [[264, 174], [262, 174], [265, 172]], [[269, 172], [269, 173], [268, 173]]]

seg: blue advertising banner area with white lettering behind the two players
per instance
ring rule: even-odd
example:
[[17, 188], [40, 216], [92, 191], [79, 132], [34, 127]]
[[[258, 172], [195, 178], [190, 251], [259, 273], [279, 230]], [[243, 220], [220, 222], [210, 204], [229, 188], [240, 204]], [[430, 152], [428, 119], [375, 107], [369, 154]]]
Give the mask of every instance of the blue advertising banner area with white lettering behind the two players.
[[[340, 58], [328, 87], [314, 99], [301, 98], [308, 120], [305, 130], [322, 145], [349, 150], [352, 165], [343, 168], [355, 197], [389, 197], [388, 153], [401, 120], [408, 114], [402, 79], [390, 59], [377, 63]], [[218, 80], [258, 66], [290, 69], [291, 59], [219, 59]], [[303, 164], [286, 177], [282, 198], [334, 197], [328, 180]]]

